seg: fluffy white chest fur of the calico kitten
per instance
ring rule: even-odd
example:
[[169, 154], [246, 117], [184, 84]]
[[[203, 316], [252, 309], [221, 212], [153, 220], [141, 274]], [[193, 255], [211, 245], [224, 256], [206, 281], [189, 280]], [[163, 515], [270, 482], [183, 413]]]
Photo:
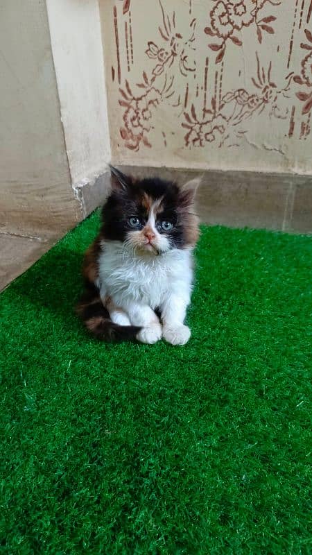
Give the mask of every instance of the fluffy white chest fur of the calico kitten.
[[141, 257], [125, 251], [119, 241], [107, 241], [103, 243], [98, 268], [101, 294], [116, 303], [136, 300], [155, 309], [177, 287], [191, 287], [190, 249]]

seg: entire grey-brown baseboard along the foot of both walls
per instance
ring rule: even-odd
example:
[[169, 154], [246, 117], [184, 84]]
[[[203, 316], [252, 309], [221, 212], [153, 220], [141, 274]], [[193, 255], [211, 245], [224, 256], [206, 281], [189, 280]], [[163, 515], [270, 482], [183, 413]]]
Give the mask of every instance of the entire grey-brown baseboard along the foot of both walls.
[[[175, 180], [178, 185], [198, 171], [180, 169], [119, 166], [135, 177], [159, 176]], [[233, 228], [265, 228], [291, 233], [312, 233], [312, 178], [288, 173], [249, 171], [205, 171], [197, 194], [196, 208], [200, 220], [208, 225]], [[110, 172], [74, 187], [80, 218], [86, 218], [103, 204], [110, 190]], [[49, 239], [26, 234], [1, 234], [3, 268], [0, 290], [49, 250], [64, 233], [75, 225], [67, 221], [58, 232], [53, 228]], [[13, 248], [14, 247], [14, 248]], [[17, 264], [18, 261], [18, 264]]]

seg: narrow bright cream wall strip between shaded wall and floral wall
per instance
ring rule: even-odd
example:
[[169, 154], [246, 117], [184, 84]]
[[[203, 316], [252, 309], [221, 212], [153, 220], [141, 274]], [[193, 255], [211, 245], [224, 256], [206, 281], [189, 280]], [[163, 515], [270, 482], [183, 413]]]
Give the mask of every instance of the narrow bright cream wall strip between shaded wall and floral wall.
[[97, 0], [46, 0], [51, 47], [73, 187], [110, 161]]

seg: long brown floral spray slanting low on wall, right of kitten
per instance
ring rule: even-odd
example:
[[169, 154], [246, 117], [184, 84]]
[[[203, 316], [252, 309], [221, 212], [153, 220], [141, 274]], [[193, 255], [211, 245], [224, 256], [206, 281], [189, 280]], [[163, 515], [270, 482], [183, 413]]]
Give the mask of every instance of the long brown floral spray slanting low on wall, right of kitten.
[[241, 138], [245, 133], [241, 129], [241, 124], [252, 118], [259, 116], [263, 110], [268, 109], [268, 117], [286, 119], [288, 110], [283, 114], [279, 108], [279, 98], [281, 95], [288, 98], [286, 94], [290, 89], [293, 74], [289, 74], [286, 79], [286, 86], [278, 89], [277, 85], [271, 80], [272, 62], [268, 67], [267, 73], [260, 66], [257, 56], [257, 77], [252, 78], [252, 83], [259, 92], [250, 94], [246, 89], [240, 88], [223, 95], [220, 106], [216, 108], [216, 98], [211, 99], [211, 108], [205, 109], [205, 117], [199, 120], [194, 106], [191, 112], [184, 112], [185, 122], [182, 127], [186, 128], [187, 135], [184, 136], [186, 146], [204, 146], [205, 142], [218, 141], [218, 146], [223, 146], [227, 139]]

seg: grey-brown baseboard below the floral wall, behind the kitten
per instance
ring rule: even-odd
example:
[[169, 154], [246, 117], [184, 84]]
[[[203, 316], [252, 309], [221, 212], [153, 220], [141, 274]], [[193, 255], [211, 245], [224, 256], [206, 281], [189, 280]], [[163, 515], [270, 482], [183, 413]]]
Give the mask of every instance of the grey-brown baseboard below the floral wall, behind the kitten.
[[312, 233], [312, 176], [254, 171], [185, 171], [119, 166], [137, 177], [159, 176], [178, 184], [202, 175], [197, 194], [200, 219], [208, 225]]

